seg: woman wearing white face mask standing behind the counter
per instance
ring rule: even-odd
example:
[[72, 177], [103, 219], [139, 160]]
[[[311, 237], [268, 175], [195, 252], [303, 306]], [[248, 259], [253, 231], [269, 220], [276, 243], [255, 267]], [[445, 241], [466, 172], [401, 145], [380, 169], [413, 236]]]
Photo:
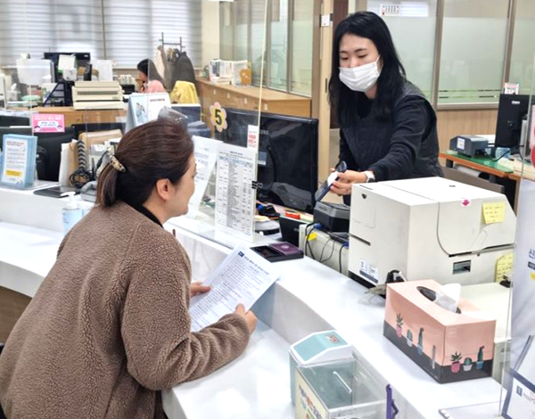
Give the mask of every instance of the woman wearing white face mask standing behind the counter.
[[336, 27], [329, 100], [349, 168], [333, 193], [350, 195], [354, 183], [443, 176], [435, 113], [407, 81], [391, 34], [373, 12], [351, 14]]

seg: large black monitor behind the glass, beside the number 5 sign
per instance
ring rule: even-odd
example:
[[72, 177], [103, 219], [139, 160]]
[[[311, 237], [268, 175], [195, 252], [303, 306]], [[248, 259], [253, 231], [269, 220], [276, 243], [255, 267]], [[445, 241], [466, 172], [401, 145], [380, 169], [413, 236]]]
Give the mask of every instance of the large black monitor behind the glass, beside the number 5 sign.
[[[226, 109], [228, 127], [217, 133], [226, 144], [247, 146], [256, 111]], [[311, 212], [317, 190], [317, 119], [262, 113], [259, 133], [258, 197]]]

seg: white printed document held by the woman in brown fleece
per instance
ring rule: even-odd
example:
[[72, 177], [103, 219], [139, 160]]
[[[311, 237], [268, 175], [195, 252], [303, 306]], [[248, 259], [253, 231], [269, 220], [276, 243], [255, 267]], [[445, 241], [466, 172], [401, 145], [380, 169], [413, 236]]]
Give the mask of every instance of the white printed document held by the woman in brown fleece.
[[280, 276], [278, 269], [259, 254], [240, 244], [204, 281], [210, 292], [193, 297], [190, 305], [192, 332], [234, 313], [242, 303], [249, 310]]

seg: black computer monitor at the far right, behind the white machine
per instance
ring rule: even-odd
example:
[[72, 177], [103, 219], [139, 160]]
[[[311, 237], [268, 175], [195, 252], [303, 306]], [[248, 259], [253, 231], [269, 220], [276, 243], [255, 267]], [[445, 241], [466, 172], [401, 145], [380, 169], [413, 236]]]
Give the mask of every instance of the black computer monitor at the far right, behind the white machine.
[[530, 96], [527, 94], [499, 95], [495, 140], [497, 147], [508, 147], [513, 152], [518, 152], [521, 145], [521, 134], [523, 129], [527, 129], [526, 116], [529, 104]]

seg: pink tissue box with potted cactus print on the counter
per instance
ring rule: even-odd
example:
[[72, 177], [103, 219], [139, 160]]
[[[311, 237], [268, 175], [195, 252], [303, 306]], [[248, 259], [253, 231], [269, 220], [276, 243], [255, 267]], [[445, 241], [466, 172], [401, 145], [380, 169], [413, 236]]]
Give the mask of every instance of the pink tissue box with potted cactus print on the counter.
[[437, 382], [490, 376], [496, 319], [463, 299], [453, 313], [422, 293], [438, 290], [433, 280], [389, 284], [384, 336]]

